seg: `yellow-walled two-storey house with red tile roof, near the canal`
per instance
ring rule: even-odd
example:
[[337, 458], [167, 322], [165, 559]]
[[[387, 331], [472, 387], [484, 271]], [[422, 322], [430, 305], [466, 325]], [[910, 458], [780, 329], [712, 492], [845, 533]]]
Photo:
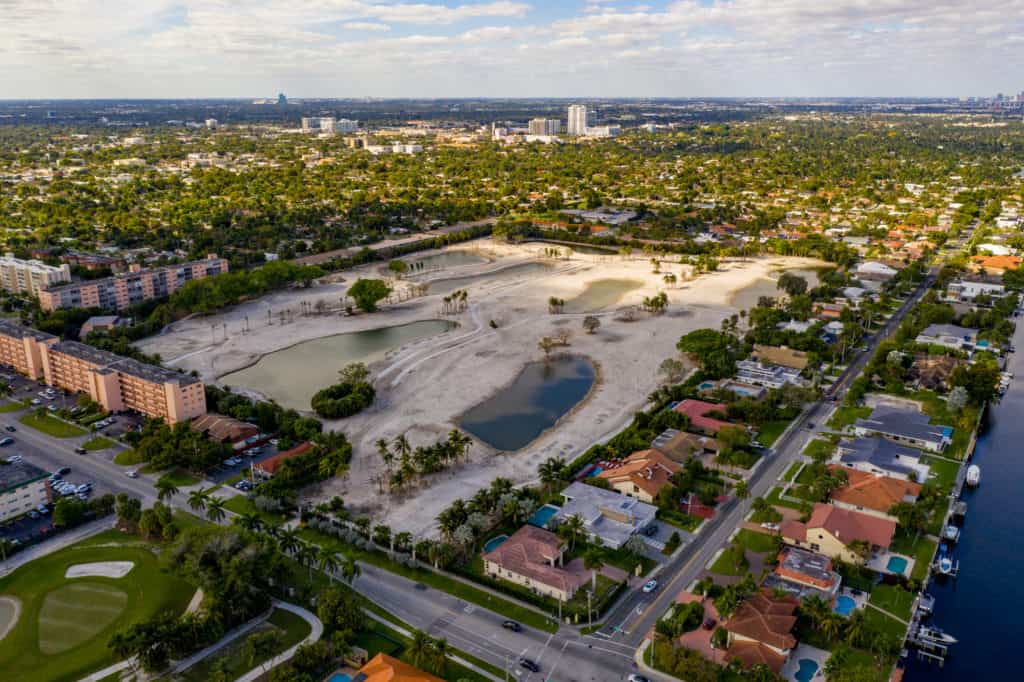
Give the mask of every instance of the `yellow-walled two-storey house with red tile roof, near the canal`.
[[806, 523], [784, 521], [779, 528], [783, 542], [806, 548], [847, 563], [863, 563], [852, 548], [864, 543], [871, 552], [889, 549], [896, 522], [833, 505], [816, 504]]

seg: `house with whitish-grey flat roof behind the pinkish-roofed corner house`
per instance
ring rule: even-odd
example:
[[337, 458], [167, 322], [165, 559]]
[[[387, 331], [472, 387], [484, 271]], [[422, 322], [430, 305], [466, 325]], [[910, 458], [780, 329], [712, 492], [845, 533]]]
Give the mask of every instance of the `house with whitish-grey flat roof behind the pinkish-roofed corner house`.
[[555, 514], [555, 524], [578, 516], [592, 541], [600, 539], [611, 549], [625, 545], [631, 536], [653, 523], [657, 516], [657, 508], [646, 502], [579, 481], [562, 491], [562, 497], [565, 504]]

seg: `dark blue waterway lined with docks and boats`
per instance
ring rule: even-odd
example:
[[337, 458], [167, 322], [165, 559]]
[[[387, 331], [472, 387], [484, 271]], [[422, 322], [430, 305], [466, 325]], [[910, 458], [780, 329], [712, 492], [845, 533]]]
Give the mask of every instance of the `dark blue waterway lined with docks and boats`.
[[[1014, 345], [1024, 347], [1024, 324]], [[988, 412], [972, 462], [981, 467], [981, 485], [966, 488], [967, 518], [953, 559], [955, 580], [934, 581], [932, 622], [959, 640], [945, 666], [921, 663], [910, 653], [905, 679], [911, 682], [1020, 680], [1017, 657], [1024, 622], [1024, 355], [1008, 367], [1014, 380]]]

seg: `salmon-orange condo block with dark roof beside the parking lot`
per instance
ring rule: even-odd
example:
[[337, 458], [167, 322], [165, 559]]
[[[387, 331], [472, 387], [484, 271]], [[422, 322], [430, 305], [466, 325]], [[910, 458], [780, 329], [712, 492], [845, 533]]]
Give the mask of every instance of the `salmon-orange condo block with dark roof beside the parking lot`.
[[206, 414], [199, 379], [139, 363], [8, 321], [0, 321], [0, 361], [47, 385], [84, 393], [104, 410], [134, 410], [169, 424]]

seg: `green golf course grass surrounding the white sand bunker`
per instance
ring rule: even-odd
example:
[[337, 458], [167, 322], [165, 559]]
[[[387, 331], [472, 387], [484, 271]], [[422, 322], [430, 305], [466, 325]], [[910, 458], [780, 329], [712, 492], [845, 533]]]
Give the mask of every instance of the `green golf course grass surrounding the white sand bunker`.
[[[65, 579], [69, 566], [96, 561], [135, 565], [120, 579]], [[32, 561], [0, 579], [0, 593], [22, 602], [17, 624], [0, 640], [0, 677], [81, 679], [117, 662], [106, 648], [116, 631], [160, 611], [181, 612], [194, 592], [186, 582], [162, 572], [140, 539], [116, 530]]]

